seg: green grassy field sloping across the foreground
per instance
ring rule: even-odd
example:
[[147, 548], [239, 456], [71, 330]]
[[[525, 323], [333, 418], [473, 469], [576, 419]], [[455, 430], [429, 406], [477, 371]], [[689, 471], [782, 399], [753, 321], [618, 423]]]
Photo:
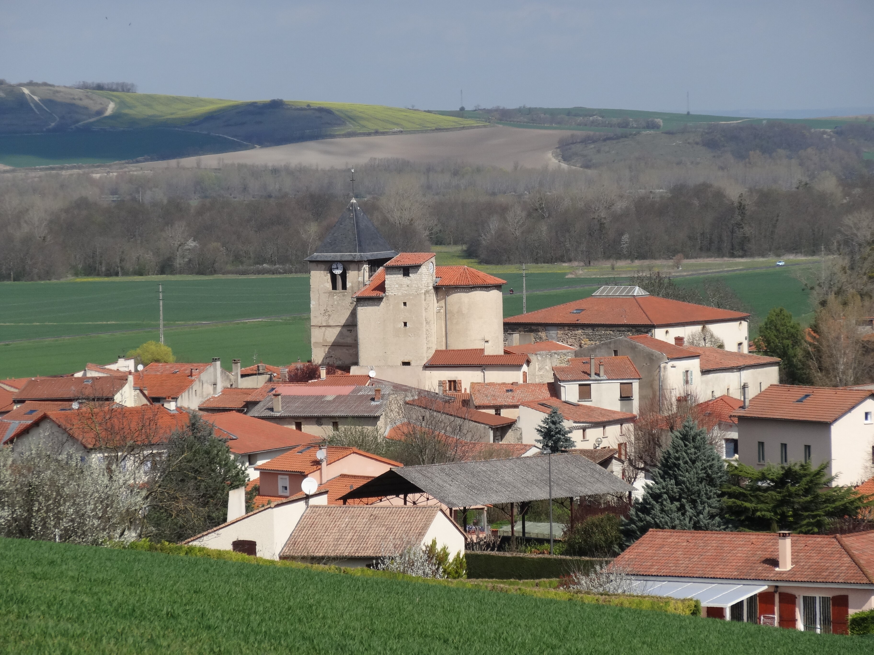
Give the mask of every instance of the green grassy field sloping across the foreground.
[[485, 590], [0, 540], [0, 652], [868, 652], [866, 640]]

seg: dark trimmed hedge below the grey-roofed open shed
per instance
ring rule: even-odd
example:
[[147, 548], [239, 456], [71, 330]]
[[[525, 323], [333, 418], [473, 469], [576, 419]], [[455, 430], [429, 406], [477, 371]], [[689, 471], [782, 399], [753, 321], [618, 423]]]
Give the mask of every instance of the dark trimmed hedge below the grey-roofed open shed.
[[468, 551], [468, 578], [489, 580], [540, 580], [566, 576], [575, 571], [588, 573], [597, 564], [609, 562], [589, 557], [475, 553]]

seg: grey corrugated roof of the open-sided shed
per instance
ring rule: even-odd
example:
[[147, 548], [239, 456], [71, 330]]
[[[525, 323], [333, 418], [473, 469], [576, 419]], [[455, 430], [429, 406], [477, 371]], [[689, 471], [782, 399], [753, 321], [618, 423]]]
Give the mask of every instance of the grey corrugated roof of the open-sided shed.
[[[550, 494], [549, 459], [537, 455], [392, 468], [346, 497], [427, 493], [447, 507], [545, 500]], [[613, 473], [574, 453], [551, 455], [551, 471], [553, 498], [632, 491]]]

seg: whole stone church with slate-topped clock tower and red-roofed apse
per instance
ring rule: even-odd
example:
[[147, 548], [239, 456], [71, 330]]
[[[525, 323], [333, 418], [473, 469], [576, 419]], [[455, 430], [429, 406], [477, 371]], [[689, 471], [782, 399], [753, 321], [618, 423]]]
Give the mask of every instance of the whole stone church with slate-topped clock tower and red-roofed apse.
[[395, 252], [353, 198], [309, 262], [313, 362], [432, 390], [527, 382], [505, 355], [505, 280]]

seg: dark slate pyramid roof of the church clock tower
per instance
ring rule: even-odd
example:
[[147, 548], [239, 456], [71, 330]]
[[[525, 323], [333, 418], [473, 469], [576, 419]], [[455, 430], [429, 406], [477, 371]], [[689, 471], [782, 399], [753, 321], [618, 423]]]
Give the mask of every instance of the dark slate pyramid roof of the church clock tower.
[[316, 247], [316, 252], [306, 260], [364, 261], [392, 259], [397, 254], [353, 198], [323, 242]]

